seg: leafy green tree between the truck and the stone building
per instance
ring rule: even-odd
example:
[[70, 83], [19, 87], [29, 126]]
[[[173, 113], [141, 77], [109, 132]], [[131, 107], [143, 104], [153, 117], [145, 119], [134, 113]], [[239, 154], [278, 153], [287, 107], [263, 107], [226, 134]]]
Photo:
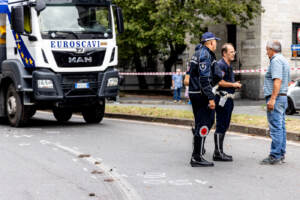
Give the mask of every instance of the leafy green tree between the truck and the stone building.
[[[203, 30], [211, 24], [228, 23], [247, 28], [263, 8], [260, 0], [115, 0], [123, 9], [125, 34], [119, 38], [120, 59], [143, 68], [141, 58], [164, 60], [171, 71], [178, 56], [191, 43], [199, 43]], [[165, 77], [165, 88], [171, 77]]]

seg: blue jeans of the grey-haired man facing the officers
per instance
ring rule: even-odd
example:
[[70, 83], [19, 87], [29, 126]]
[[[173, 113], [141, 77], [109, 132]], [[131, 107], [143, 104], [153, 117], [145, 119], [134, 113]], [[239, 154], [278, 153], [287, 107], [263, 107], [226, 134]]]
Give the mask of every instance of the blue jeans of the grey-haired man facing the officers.
[[[270, 97], [266, 99], [268, 102]], [[267, 111], [270, 135], [272, 138], [270, 155], [276, 159], [284, 156], [286, 152], [286, 129], [285, 110], [287, 108], [287, 97], [278, 96], [274, 110]]]

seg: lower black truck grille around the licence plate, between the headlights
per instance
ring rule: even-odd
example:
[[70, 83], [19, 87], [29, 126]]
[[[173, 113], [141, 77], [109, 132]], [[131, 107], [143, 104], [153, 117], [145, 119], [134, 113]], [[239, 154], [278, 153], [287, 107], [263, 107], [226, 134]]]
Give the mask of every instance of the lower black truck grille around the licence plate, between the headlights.
[[[102, 76], [99, 76], [102, 77]], [[61, 86], [64, 96], [97, 96], [99, 85], [98, 73], [62, 75]], [[89, 83], [87, 89], [76, 89], [76, 83]]]

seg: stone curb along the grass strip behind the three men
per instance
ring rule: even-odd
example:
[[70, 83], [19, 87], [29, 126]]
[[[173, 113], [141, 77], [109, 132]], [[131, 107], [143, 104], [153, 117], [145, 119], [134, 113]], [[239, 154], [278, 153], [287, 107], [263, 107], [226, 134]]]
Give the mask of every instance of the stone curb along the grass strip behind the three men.
[[[138, 121], [145, 121], [145, 122], [159, 122], [159, 123], [182, 125], [182, 126], [192, 126], [194, 124], [194, 121], [190, 119], [149, 117], [149, 116], [142, 116], [142, 115], [121, 114], [121, 113], [105, 113], [104, 117], [116, 118], [116, 119], [127, 119], [127, 120], [138, 120]], [[270, 137], [269, 129], [257, 128], [254, 126], [230, 124], [229, 131], [239, 132], [239, 133], [244, 133], [249, 135]], [[287, 132], [286, 137], [287, 140], [300, 141], [300, 134], [296, 132]]]

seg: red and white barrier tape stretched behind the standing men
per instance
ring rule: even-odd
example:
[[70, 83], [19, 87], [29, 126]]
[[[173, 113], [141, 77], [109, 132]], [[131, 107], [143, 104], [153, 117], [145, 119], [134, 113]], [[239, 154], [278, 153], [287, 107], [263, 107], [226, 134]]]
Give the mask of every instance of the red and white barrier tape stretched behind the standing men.
[[[291, 71], [300, 70], [298, 68], [291, 68]], [[259, 73], [259, 72], [267, 72], [267, 69], [242, 69], [242, 70], [234, 70], [235, 74], [245, 74], [245, 73]], [[120, 75], [123, 76], [166, 76], [177, 74], [177, 72], [120, 72]], [[185, 75], [185, 72], [180, 72], [181, 75]]]

